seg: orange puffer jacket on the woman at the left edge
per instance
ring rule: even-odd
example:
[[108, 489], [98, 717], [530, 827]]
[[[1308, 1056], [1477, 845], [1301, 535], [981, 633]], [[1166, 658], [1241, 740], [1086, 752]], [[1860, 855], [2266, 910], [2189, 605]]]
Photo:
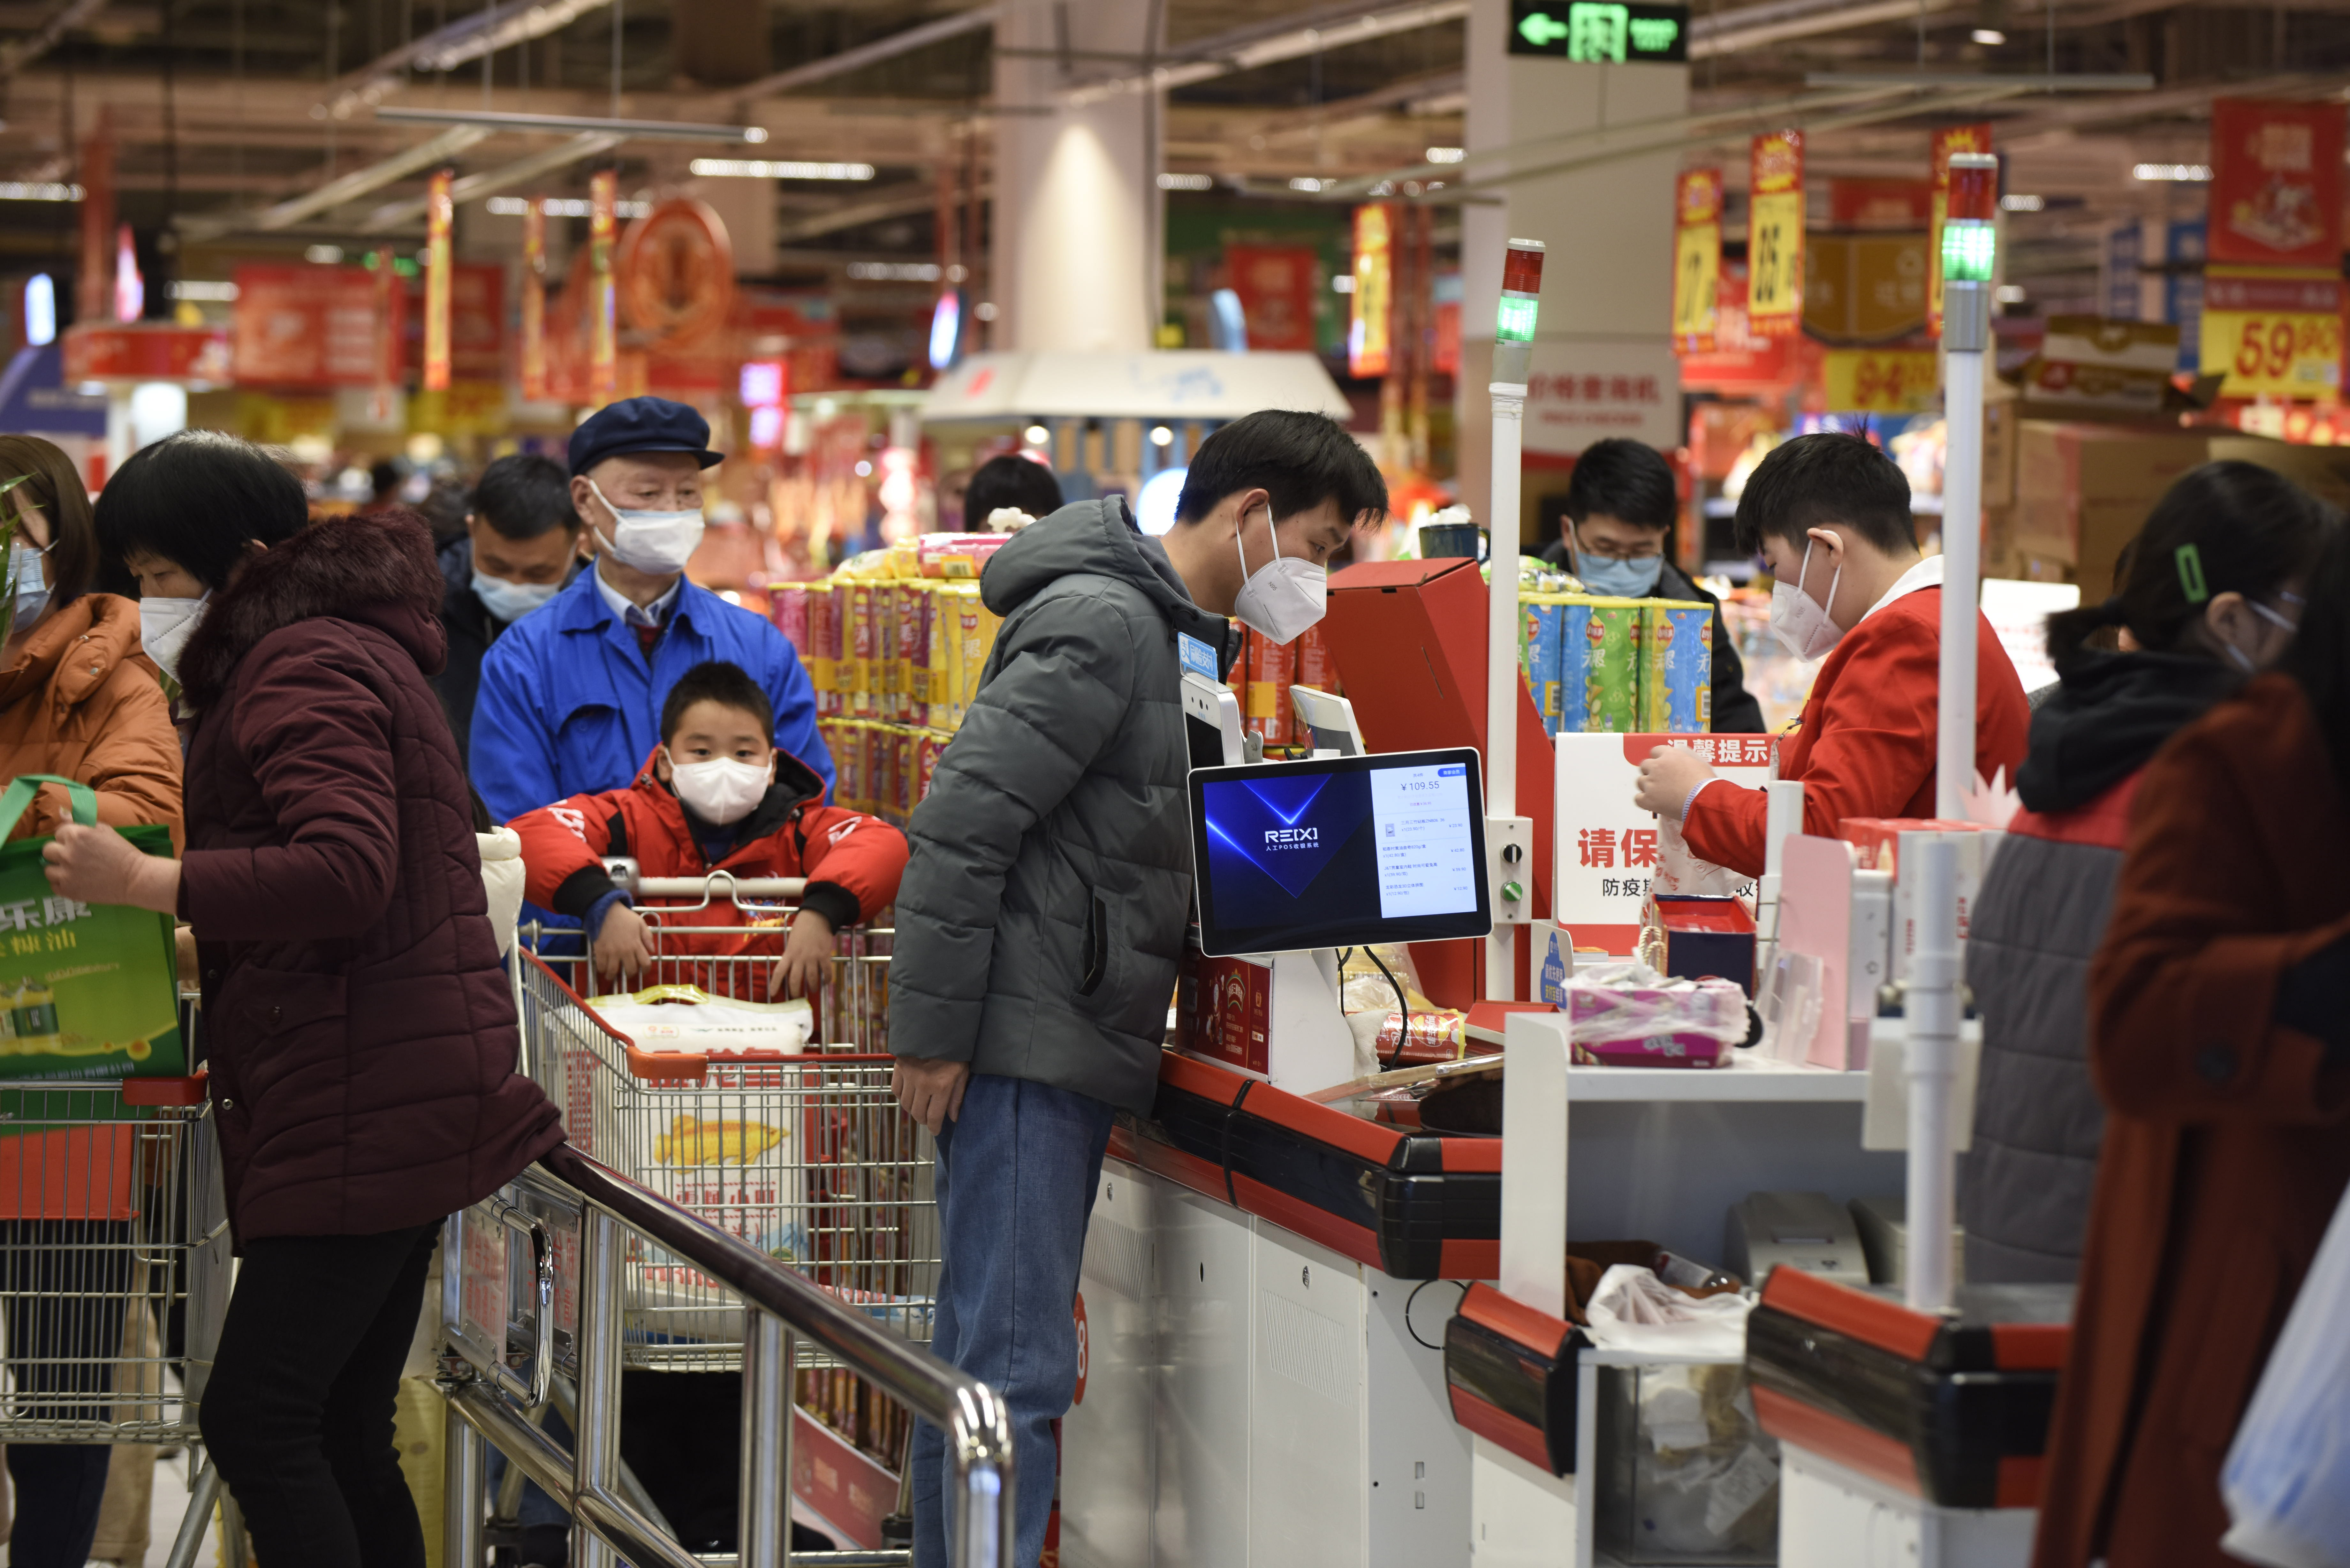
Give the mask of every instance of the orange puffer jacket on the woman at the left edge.
[[[0, 670], [0, 780], [19, 773], [78, 778], [96, 790], [101, 823], [162, 823], [179, 846], [179, 731], [129, 599], [85, 592], [54, 607]], [[61, 820], [66, 792], [42, 785], [14, 837]]]

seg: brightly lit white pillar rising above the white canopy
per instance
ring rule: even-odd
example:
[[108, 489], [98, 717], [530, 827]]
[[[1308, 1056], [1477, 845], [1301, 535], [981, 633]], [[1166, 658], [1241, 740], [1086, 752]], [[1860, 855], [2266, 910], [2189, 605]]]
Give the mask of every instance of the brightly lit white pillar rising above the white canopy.
[[[1010, 0], [996, 24], [989, 294], [996, 348], [1152, 348], [1161, 313], [1163, 92], [1062, 103], [1069, 87], [1130, 75], [1163, 7]], [[1161, 21], [1163, 33], [1163, 21]], [[1053, 52], [1067, 47], [1067, 66]], [[1039, 49], [1043, 54], [1020, 54]], [[1093, 54], [1095, 59], [1088, 59]], [[1053, 113], [1029, 113], [1050, 108]], [[1497, 256], [1499, 263], [1499, 256]]]

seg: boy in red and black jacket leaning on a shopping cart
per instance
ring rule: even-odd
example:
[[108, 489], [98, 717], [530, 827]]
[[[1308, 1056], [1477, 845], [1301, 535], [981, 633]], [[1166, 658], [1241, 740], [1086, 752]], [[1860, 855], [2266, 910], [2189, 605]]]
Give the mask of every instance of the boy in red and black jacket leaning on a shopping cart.
[[[660, 959], [768, 954], [780, 961], [766, 994], [811, 994], [832, 957], [832, 933], [898, 898], [905, 835], [888, 823], [825, 804], [825, 780], [773, 743], [766, 691], [731, 663], [686, 670], [660, 708], [660, 748], [625, 790], [573, 795], [515, 818], [529, 898], [571, 914], [590, 936], [599, 976], [649, 976]], [[806, 877], [790, 933], [679, 933], [679, 926], [768, 924], [731, 900], [663, 905], [658, 943], [604, 872], [606, 856], [634, 856], [646, 877]], [[721, 976], [733, 964], [707, 964]], [[656, 978], [700, 978], [698, 973]], [[705, 990], [731, 992], [703, 980]]]

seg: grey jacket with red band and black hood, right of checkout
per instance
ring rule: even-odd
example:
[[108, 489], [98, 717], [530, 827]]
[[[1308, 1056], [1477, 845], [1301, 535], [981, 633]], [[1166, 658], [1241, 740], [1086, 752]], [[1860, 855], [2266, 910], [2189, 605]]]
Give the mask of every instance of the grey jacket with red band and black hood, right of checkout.
[[2209, 658], [2089, 654], [2033, 712], [2023, 811], [1967, 924], [1983, 1016], [1974, 1147], [1958, 1166], [1969, 1284], [2070, 1284], [2106, 1140], [2089, 1079], [2089, 959], [2113, 917], [2129, 795], [2162, 743], [2232, 691]]

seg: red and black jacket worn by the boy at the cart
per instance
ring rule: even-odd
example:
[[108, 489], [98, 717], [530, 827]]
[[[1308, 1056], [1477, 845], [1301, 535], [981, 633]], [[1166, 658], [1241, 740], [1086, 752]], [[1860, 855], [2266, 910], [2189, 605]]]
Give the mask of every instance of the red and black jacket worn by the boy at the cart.
[[[656, 752], [658, 755], [658, 752]], [[585, 922], [588, 912], [613, 891], [604, 875], [606, 856], [634, 856], [646, 877], [700, 877], [728, 870], [740, 877], [806, 877], [808, 891], [799, 905], [822, 914], [834, 931], [870, 919], [898, 898], [905, 875], [905, 835], [877, 816], [827, 806], [825, 780], [790, 752], [776, 752], [776, 783], [766, 799], [733, 825], [733, 849], [712, 860], [696, 839], [696, 827], [717, 837], [707, 823], [686, 823], [686, 806], [653, 776], [653, 757], [644, 759], [637, 780], [625, 790], [573, 795], [517, 816], [522, 865], [531, 903]], [[639, 898], [637, 907], [670, 910], [660, 924], [726, 926], [726, 933], [665, 936], [660, 952], [696, 954], [705, 961], [663, 966], [658, 983], [691, 983], [717, 994], [733, 994], [733, 964], [707, 959], [783, 954], [787, 917], [771, 910], [738, 907], [731, 900]], [[761, 992], [764, 994], [764, 992]]]

